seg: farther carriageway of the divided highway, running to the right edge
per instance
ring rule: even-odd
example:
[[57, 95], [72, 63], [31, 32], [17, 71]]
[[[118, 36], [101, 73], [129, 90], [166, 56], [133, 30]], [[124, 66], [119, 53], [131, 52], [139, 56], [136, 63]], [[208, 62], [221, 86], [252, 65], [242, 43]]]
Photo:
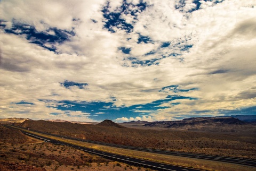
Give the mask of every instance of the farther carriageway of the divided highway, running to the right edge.
[[[23, 127], [19, 127], [19, 128], [24, 129]], [[33, 131], [39, 132], [39, 133], [44, 133], [44, 134], [49, 134], [49, 133], [36, 131], [36, 130], [33, 130]], [[62, 137], [61, 135], [54, 135], [54, 134], [49, 134], [49, 135]], [[172, 155], [172, 156], [181, 156], [181, 157], [190, 157], [190, 158], [222, 161], [222, 162], [227, 162], [227, 163], [234, 163], [234, 164], [241, 164], [241, 165], [256, 167], [256, 161], [255, 160], [250, 160], [250, 159], [231, 158], [231, 157], [223, 157], [223, 156], [210, 156], [210, 155], [202, 155], [202, 154], [198, 154], [198, 153], [188, 153], [188, 152], [178, 152], [178, 151], [165, 151], [165, 150], [158, 150], [158, 149], [148, 149], [148, 148], [124, 146], [124, 145], [120, 145], [120, 144], [97, 142], [97, 141], [91, 141], [91, 140], [82, 140], [82, 139], [76, 139], [76, 138], [70, 138], [70, 137], [65, 137], [65, 138], [66, 139], [77, 140], [77, 141], [94, 143], [94, 144], [100, 144], [100, 145], [103, 145], [103, 146], [111, 146], [111, 147], [124, 148], [124, 149], [130, 149], [130, 150], [139, 150], [139, 151], [146, 151], [146, 152], [153, 152], [153, 153], [161, 153], [161, 154], [164, 154], [164, 155]]]

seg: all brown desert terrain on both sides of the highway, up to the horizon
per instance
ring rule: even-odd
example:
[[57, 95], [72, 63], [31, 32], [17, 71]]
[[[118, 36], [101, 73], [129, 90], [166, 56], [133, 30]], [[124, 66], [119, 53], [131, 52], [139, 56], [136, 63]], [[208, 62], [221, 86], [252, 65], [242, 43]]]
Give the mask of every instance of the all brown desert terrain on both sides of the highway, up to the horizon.
[[[16, 118], [12, 119], [12, 122], [5, 119], [4, 123], [63, 137], [256, 160], [255, 125], [230, 117], [222, 119], [193, 118], [153, 123], [145, 121], [114, 123], [105, 120], [95, 124]], [[27, 170], [145, 170], [103, 159], [70, 147], [40, 142], [25, 136], [18, 130], [7, 129], [2, 125], [0, 137], [1, 170], [15, 170], [19, 167], [24, 170], [27, 168]], [[94, 148], [113, 150], [107, 147]], [[70, 157], [70, 155], [72, 156]], [[163, 156], [160, 158], [163, 159]], [[158, 157], [158, 160], [160, 158]], [[166, 161], [169, 160], [166, 159]], [[180, 166], [189, 167], [188, 163], [182, 161], [183, 158], [175, 157], [172, 160]], [[203, 161], [195, 160], [191, 161], [191, 164], [193, 167], [200, 168], [201, 162]], [[223, 170], [225, 168], [223, 165], [219, 165], [211, 169], [211, 165], [216, 164], [212, 162], [204, 168], [206, 170]], [[233, 169], [225, 168], [225, 170]], [[245, 168], [245, 170], [250, 169]]]

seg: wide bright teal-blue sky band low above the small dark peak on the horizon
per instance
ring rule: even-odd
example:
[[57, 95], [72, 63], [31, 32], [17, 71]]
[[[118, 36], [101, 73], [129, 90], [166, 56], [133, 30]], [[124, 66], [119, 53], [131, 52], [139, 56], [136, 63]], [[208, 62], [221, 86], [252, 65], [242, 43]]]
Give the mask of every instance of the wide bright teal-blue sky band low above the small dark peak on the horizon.
[[[71, 100], [61, 100], [53, 101], [54, 105], [48, 105], [47, 107], [56, 108], [65, 112], [72, 113], [72, 111], [80, 111], [86, 113], [86, 117], [90, 117], [97, 121], [102, 121], [104, 119], [116, 119], [119, 117], [137, 117], [139, 114], [150, 114], [156, 112], [159, 109], [170, 108], [174, 105], [179, 105], [179, 102], [171, 102], [177, 99], [190, 99], [195, 100], [192, 97], [185, 96], [166, 96], [164, 99], [155, 100], [147, 104], [138, 104], [132, 106], [121, 106], [116, 107], [114, 101], [104, 102], [104, 101], [71, 101]], [[51, 100], [41, 100], [47, 103]], [[165, 106], [161, 106], [165, 104]], [[90, 114], [90, 115], [88, 115]], [[82, 116], [82, 115], [81, 115]]]

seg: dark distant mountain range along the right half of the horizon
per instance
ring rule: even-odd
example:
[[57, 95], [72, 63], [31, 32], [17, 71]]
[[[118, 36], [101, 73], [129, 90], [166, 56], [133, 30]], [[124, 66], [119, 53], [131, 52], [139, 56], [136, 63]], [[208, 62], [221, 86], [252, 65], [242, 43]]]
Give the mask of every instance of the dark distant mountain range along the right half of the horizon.
[[[256, 115], [237, 115], [221, 117], [191, 117], [180, 121], [132, 121], [122, 123], [123, 126], [150, 129], [171, 129], [213, 132], [256, 131]], [[132, 126], [130, 126], [132, 125]]]

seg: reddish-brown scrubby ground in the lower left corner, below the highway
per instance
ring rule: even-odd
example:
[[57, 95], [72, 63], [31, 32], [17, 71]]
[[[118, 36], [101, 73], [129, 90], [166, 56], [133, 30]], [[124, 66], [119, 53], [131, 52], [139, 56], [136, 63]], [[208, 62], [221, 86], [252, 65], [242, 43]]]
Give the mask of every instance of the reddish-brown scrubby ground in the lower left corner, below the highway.
[[[2, 132], [2, 130], [4, 130]], [[10, 133], [10, 132], [11, 133]], [[71, 147], [59, 146], [51, 143], [45, 143], [36, 139], [30, 138], [20, 131], [14, 131], [0, 126], [0, 170], [37, 170], [37, 171], [50, 171], [50, 170], [95, 170], [100, 167], [100, 170], [111, 170], [114, 165], [119, 165], [123, 170], [125, 164], [116, 163], [108, 159], [103, 159], [98, 156], [90, 155], [81, 150]], [[9, 139], [3, 139], [6, 134]], [[17, 136], [18, 135], [18, 136]], [[13, 137], [15, 144], [12, 145]], [[19, 139], [20, 137], [20, 139]], [[3, 142], [4, 141], [4, 142]], [[33, 142], [33, 145], [27, 146], [26, 143]], [[40, 149], [40, 150], [38, 150]], [[58, 150], [55, 150], [58, 149]], [[54, 151], [55, 150], [55, 151]], [[42, 152], [43, 151], [43, 152]], [[61, 151], [61, 155], [59, 153]], [[106, 165], [104, 165], [106, 164]], [[116, 167], [117, 168], [117, 167]], [[134, 167], [136, 168], [136, 167]], [[131, 170], [131, 169], [129, 169]], [[136, 170], [136, 169], [135, 169]]]

